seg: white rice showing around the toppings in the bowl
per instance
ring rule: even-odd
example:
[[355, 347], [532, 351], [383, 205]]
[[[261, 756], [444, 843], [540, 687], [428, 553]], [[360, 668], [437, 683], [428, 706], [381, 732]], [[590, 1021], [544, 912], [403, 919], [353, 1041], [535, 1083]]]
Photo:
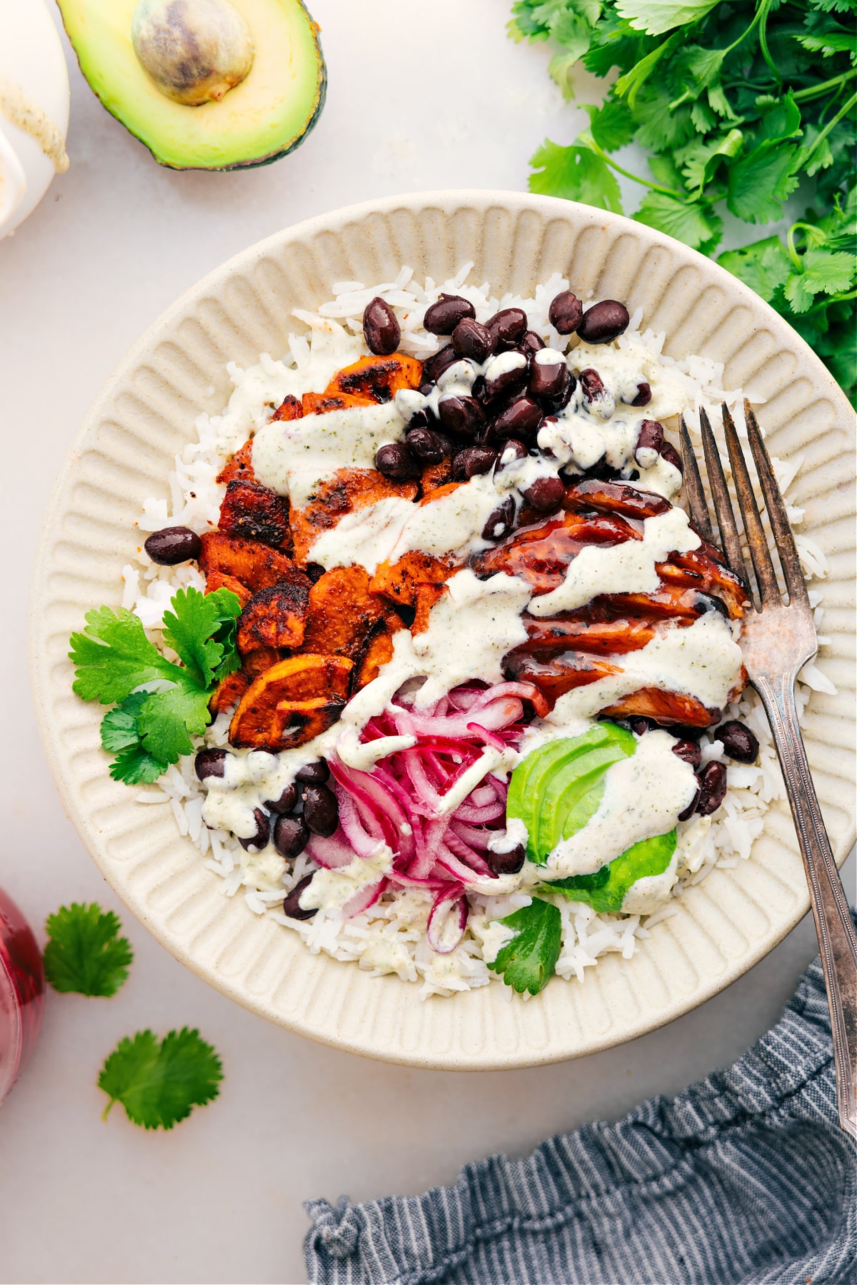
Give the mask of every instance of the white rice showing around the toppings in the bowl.
[[[311, 344], [322, 319], [333, 319], [344, 326], [353, 337], [362, 335], [362, 311], [375, 296], [382, 296], [396, 311], [402, 328], [400, 348], [415, 357], [425, 359], [436, 352], [441, 341], [421, 328], [425, 307], [433, 303], [441, 292], [463, 294], [477, 314], [477, 320], [486, 321], [499, 308], [520, 307], [527, 312], [529, 328], [536, 330], [551, 347], [565, 347], [564, 337], [559, 335], [547, 319], [550, 301], [560, 290], [569, 288], [565, 278], [555, 272], [542, 285], [536, 287], [533, 298], [504, 294], [501, 298], [491, 292], [491, 287], [469, 285], [468, 278], [473, 269], [465, 263], [447, 281], [434, 283], [427, 279], [423, 285], [414, 280], [412, 270], [402, 267], [394, 281], [379, 285], [364, 285], [361, 281], [339, 281], [333, 287], [334, 298], [322, 303], [317, 314], [296, 311], [294, 316], [308, 329], [308, 339], [293, 335], [289, 351], [279, 360], [269, 353], [260, 356], [258, 365], [243, 370], [230, 362], [227, 371], [235, 386], [229, 406], [221, 415], [200, 415], [197, 419], [197, 441], [185, 446], [176, 456], [176, 465], [170, 474], [170, 499], [150, 499], [143, 508], [139, 519], [141, 532], [157, 531], [164, 526], [181, 524], [197, 532], [217, 526], [220, 502], [224, 487], [216, 477], [227, 457], [242, 446], [251, 432], [261, 428], [270, 418], [271, 410], [279, 405], [281, 394], [278, 388], [287, 369], [302, 370], [311, 360]], [[699, 445], [699, 425], [696, 407], [704, 405], [712, 421], [720, 419], [720, 403], [726, 402], [735, 414], [739, 433], [744, 433], [743, 391], [722, 387], [723, 365], [708, 357], [691, 355], [681, 360], [662, 353], [666, 335], [651, 330], [640, 330], [642, 312], [637, 310], [631, 325], [617, 343], [624, 347], [633, 338], [641, 342], [686, 389], [685, 418]], [[331, 370], [333, 373], [333, 370]], [[306, 391], [311, 389], [307, 386]], [[668, 423], [669, 428], [671, 424]], [[675, 425], [672, 425], [675, 427]], [[723, 466], [729, 475], [729, 460], [723, 451]], [[788, 492], [799, 472], [802, 456], [788, 461], [772, 459], [773, 469], [782, 492]], [[788, 502], [788, 497], [786, 497]], [[789, 508], [789, 519], [798, 526], [803, 518], [800, 509]], [[800, 563], [809, 580], [824, 580], [826, 574], [825, 555], [808, 536], [795, 533]], [[162, 613], [179, 587], [195, 586], [204, 589], [204, 578], [191, 564], [180, 567], [159, 567], [150, 563], [145, 555], [139, 562], [123, 568], [125, 590], [123, 607], [136, 612], [146, 630], [157, 631]], [[811, 590], [811, 603], [815, 608], [816, 627], [821, 626], [822, 595]], [[159, 634], [154, 635], [161, 641]], [[827, 640], [820, 635], [821, 646]], [[835, 695], [835, 687], [816, 663], [808, 664], [800, 673], [803, 686], [798, 687], [798, 708], [803, 708], [809, 698], [809, 690]], [[745, 767], [730, 763], [729, 790], [722, 806], [708, 821], [695, 819], [696, 844], [693, 858], [686, 860], [673, 889], [673, 898], [681, 897], [689, 884], [699, 883], [718, 866], [730, 869], [739, 861], [750, 857], [754, 839], [762, 833], [764, 815], [775, 799], [785, 797], [782, 777], [777, 763], [771, 732], [762, 704], [752, 689], [747, 689], [735, 705], [725, 711], [725, 717], [740, 718], [747, 722], [759, 740], [758, 763]], [[220, 716], [208, 729], [199, 744], [227, 744], [229, 718]], [[711, 732], [700, 740], [703, 761], [722, 758], [722, 745]], [[472, 897], [473, 912], [468, 932], [450, 955], [438, 955], [428, 944], [425, 921], [432, 905], [430, 893], [421, 889], [400, 889], [388, 893], [370, 910], [343, 920], [337, 911], [320, 910], [310, 920], [296, 920], [283, 915], [279, 908], [285, 893], [305, 875], [315, 870], [314, 862], [298, 857], [292, 869], [272, 849], [266, 853], [249, 855], [230, 834], [208, 830], [202, 822], [202, 803], [204, 790], [197, 780], [193, 757], [182, 758], [170, 767], [161, 780], [141, 789], [136, 798], [140, 803], [163, 803], [168, 799], [176, 825], [182, 835], [189, 835], [206, 861], [208, 870], [222, 879], [221, 891], [233, 897], [243, 892], [248, 907], [257, 915], [267, 915], [292, 932], [298, 933], [307, 948], [314, 953], [325, 951], [338, 960], [356, 961], [371, 975], [397, 973], [405, 982], [420, 984], [423, 998], [430, 995], [451, 996], [459, 991], [487, 986], [491, 980], [501, 983], [501, 978], [486, 966], [486, 959], [492, 960], [502, 944], [508, 929], [492, 924], [515, 908], [527, 905], [529, 897], [517, 893], [505, 898]], [[285, 869], [284, 869], [285, 867]], [[563, 916], [563, 946], [556, 965], [556, 973], [565, 979], [583, 982], [587, 968], [609, 952], [619, 952], [624, 959], [633, 955], [636, 942], [650, 934], [663, 919], [676, 912], [673, 900], [648, 916], [596, 914], [590, 906], [569, 902], [563, 897], [552, 898]], [[509, 998], [513, 991], [505, 988]], [[523, 998], [529, 998], [524, 995]]]

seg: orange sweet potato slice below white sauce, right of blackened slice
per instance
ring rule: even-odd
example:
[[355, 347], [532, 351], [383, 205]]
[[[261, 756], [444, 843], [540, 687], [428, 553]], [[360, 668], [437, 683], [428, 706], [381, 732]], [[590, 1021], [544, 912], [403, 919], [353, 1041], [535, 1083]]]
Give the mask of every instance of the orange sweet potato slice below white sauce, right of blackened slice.
[[310, 590], [305, 650], [356, 659], [384, 616], [384, 603], [370, 592], [362, 567], [334, 567]]

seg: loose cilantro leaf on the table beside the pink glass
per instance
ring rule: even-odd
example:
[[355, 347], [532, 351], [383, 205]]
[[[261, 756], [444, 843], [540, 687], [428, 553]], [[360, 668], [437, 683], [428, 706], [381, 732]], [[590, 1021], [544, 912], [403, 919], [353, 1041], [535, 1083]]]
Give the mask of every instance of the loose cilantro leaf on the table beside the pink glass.
[[121, 926], [112, 910], [104, 911], [95, 902], [72, 902], [49, 915], [44, 962], [54, 991], [104, 998], [116, 995], [134, 959], [128, 939], [117, 935]]

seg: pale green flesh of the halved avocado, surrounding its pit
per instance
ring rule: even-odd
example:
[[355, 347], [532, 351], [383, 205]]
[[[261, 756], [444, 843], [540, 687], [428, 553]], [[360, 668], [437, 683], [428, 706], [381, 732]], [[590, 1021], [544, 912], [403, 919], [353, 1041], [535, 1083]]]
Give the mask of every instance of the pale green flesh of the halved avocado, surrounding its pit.
[[239, 170], [270, 164], [305, 140], [324, 107], [319, 27], [301, 0], [233, 0], [253, 39], [247, 77], [220, 102], [186, 107], [161, 93], [131, 44], [137, 0], [57, 0], [90, 89], [158, 164]]

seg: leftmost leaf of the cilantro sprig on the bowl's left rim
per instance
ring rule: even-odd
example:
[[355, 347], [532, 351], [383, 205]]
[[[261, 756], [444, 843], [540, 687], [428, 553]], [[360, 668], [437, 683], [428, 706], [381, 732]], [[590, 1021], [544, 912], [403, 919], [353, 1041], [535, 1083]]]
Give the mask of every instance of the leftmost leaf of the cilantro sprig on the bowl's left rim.
[[103, 705], [125, 700], [135, 687], [155, 678], [171, 677], [177, 666], [149, 642], [143, 623], [119, 607], [96, 607], [86, 613], [86, 630], [72, 634], [71, 651], [77, 677], [72, 690], [84, 700]]

